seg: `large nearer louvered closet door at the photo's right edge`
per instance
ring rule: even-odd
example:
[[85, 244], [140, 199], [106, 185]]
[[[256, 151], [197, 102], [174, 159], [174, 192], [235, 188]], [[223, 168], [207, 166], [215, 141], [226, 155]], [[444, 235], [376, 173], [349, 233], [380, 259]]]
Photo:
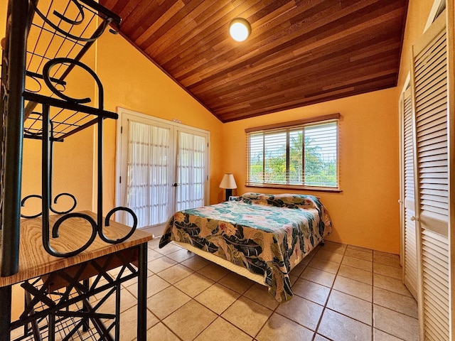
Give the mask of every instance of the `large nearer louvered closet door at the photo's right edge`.
[[423, 340], [451, 340], [445, 13], [414, 45], [416, 210]]

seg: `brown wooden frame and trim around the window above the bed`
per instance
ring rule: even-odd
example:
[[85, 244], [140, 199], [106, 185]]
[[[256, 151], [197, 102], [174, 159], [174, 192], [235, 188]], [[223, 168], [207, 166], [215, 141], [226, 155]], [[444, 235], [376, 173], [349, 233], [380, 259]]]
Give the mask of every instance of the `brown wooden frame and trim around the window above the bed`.
[[[323, 191], [323, 192], [341, 192], [340, 189], [340, 119], [341, 114], [327, 114], [319, 117], [308, 117], [306, 119], [299, 119], [296, 121], [282, 122], [278, 124], [269, 124], [267, 126], [257, 126], [253, 128], [245, 129], [246, 136], [246, 177], [245, 177], [245, 186], [252, 188], [279, 188], [279, 189], [291, 189], [291, 190], [314, 190], [314, 191]], [[336, 187], [328, 186], [319, 186], [319, 185], [299, 185], [294, 183], [289, 183], [289, 137], [287, 138], [287, 151], [286, 151], [286, 163], [287, 163], [287, 183], [265, 183], [262, 180], [262, 183], [251, 182], [250, 181], [250, 136], [257, 133], [272, 133], [274, 131], [282, 131], [289, 135], [289, 131], [295, 129], [305, 129], [307, 126], [315, 126], [318, 124], [328, 124], [331, 122], [336, 122]], [[304, 153], [304, 148], [303, 148]], [[304, 163], [304, 156], [302, 156], [302, 162]], [[303, 168], [304, 170], [304, 168]]]

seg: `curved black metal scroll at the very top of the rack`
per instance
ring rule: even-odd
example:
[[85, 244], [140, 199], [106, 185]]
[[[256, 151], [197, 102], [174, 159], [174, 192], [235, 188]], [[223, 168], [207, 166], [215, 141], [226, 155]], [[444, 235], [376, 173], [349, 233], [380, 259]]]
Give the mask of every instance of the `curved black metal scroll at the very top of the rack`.
[[[66, 17], [64, 14], [62, 13], [58, 13], [57, 11], [53, 11], [53, 15], [56, 16], [57, 18], [59, 18], [61, 21], [65, 21], [66, 23], [70, 23], [72, 25], [80, 25], [82, 23], [82, 21], [84, 21], [84, 18], [85, 18], [85, 9], [84, 9], [84, 6], [82, 6], [81, 4], [79, 4], [79, 1], [78, 0], [70, 0], [71, 2], [73, 2], [73, 4], [75, 4], [75, 6], [77, 7], [77, 11], [79, 11], [79, 13], [77, 14], [76, 16], [76, 19], [73, 20], [73, 19], [70, 19], [68, 17]], [[58, 26], [58, 24], [55, 24], [53, 23], [52, 21], [50, 21], [50, 19], [45, 16], [43, 14], [43, 12], [41, 12], [39, 9], [38, 9], [38, 6], [36, 4], [36, 1], [29, 1], [29, 3], [31, 4], [31, 6], [33, 6], [33, 9], [35, 10], [35, 12], [38, 14], [38, 16], [40, 16], [43, 21], [45, 21], [45, 23], [47, 23], [50, 27], [52, 27], [55, 31], [57, 31], [58, 33], [61, 33], [63, 34], [63, 36], [66, 36], [68, 38], [71, 38], [73, 40], [77, 40], [77, 41], [85, 41], [85, 42], [91, 42], [91, 41], [95, 41], [97, 40], [97, 38], [100, 38], [100, 36], [102, 35], [102, 33], [105, 32], [105, 29], [106, 27], [109, 25], [109, 23], [111, 23], [113, 21], [113, 18], [104, 18], [104, 20], [102, 21], [102, 23], [100, 24], [100, 27], [97, 29], [97, 31], [95, 31], [95, 33], [93, 33], [92, 36], [90, 36], [90, 38], [84, 38], [84, 37], [80, 37], [80, 36], [75, 36], [65, 30], [63, 30], [62, 28], [60, 28]], [[80, 20], [77, 20], [77, 18], [81, 16], [81, 19]]]

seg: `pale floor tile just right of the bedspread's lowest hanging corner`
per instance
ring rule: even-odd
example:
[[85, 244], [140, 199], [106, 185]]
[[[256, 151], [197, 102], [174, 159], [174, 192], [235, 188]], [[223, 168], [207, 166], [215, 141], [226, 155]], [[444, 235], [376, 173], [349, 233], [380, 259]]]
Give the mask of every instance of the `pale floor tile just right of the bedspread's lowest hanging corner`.
[[322, 305], [294, 296], [291, 301], [280, 304], [275, 311], [306, 328], [316, 330], [322, 310]]

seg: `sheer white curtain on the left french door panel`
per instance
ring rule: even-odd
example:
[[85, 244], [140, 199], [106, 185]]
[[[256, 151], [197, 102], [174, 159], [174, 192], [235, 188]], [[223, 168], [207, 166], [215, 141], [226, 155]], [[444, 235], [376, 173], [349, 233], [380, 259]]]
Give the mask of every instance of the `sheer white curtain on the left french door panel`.
[[129, 121], [127, 207], [136, 213], [137, 227], [168, 219], [169, 148], [168, 129]]

